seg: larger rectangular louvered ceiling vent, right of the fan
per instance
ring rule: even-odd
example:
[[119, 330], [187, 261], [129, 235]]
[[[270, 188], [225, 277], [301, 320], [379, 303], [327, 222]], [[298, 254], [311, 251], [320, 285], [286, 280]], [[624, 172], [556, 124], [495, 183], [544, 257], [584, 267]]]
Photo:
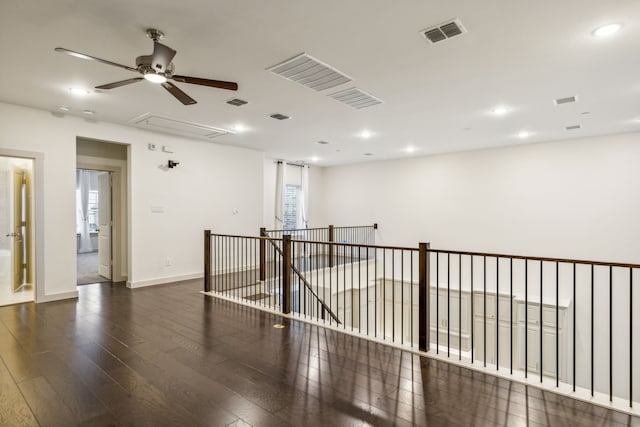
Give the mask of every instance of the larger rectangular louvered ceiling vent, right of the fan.
[[317, 91], [331, 89], [353, 80], [306, 53], [267, 68], [267, 71]]

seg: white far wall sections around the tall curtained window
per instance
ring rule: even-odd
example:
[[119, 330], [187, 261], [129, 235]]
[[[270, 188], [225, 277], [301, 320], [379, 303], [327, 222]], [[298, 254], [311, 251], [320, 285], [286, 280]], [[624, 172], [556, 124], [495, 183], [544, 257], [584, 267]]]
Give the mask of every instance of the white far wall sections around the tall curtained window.
[[[263, 227], [272, 229], [276, 227], [275, 223], [275, 200], [276, 200], [276, 171], [278, 160], [266, 158], [264, 159], [264, 207], [263, 207]], [[309, 228], [326, 227], [328, 223], [325, 220], [324, 206], [324, 168], [317, 166], [309, 167]], [[287, 165], [286, 169], [287, 184], [302, 185], [302, 168], [298, 166]], [[257, 231], [256, 231], [257, 232]]]

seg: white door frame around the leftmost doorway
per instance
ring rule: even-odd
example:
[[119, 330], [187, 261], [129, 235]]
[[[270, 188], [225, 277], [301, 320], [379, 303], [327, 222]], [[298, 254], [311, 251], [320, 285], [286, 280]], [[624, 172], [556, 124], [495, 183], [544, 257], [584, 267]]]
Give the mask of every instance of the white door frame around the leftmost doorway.
[[44, 153], [0, 147], [0, 156], [33, 160], [33, 228], [35, 231], [34, 300], [44, 298]]

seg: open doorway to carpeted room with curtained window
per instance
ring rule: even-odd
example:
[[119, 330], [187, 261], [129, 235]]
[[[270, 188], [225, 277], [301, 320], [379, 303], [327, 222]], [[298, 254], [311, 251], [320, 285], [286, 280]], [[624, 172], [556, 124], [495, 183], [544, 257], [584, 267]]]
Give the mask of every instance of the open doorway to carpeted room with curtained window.
[[110, 171], [76, 170], [77, 284], [113, 278], [112, 176]]

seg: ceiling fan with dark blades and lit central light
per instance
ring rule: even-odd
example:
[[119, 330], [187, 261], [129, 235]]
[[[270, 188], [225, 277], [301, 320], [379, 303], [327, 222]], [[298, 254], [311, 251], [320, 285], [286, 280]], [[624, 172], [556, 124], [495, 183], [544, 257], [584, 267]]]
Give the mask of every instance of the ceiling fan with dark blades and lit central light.
[[169, 80], [200, 86], [215, 87], [219, 89], [238, 90], [238, 84], [234, 82], [209, 80], [199, 77], [179, 76], [173, 74], [175, 71], [175, 67], [173, 65], [173, 62], [171, 61], [176, 55], [176, 51], [158, 41], [164, 38], [164, 34], [162, 33], [162, 31], [151, 28], [147, 30], [147, 35], [153, 40], [153, 53], [151, 55], [138, 56], [136, 58], [135, 68], [129, 67], [128, 65], [122, 65], [115, 62], [107, 61], [106, 59], [96, 58], [95, 56], [87, 55], [84, 53], [75, 52], [63, 47], [57, 47], [55, 51], [66, 53], [67, 55], [75, 56], [76, 58], [101, 62], [103, 64], [124, 68], [125, 70], [135, 71], [142, 74], [142, 77], [134, 77], [132, 79], [121, 80], [118, 82], [96, 86], [96, 89], [115, 89], [117, 87], [125, 86], [131, 83], [148, 80], [150, 82], [162, 85], [163, 88], [165, 88], [171, 95], [175, 96], [178, 101], [182, 102], [184, 105], [195, 104], [196, 100], [184, 93], [180, 88], [178, 88]]

